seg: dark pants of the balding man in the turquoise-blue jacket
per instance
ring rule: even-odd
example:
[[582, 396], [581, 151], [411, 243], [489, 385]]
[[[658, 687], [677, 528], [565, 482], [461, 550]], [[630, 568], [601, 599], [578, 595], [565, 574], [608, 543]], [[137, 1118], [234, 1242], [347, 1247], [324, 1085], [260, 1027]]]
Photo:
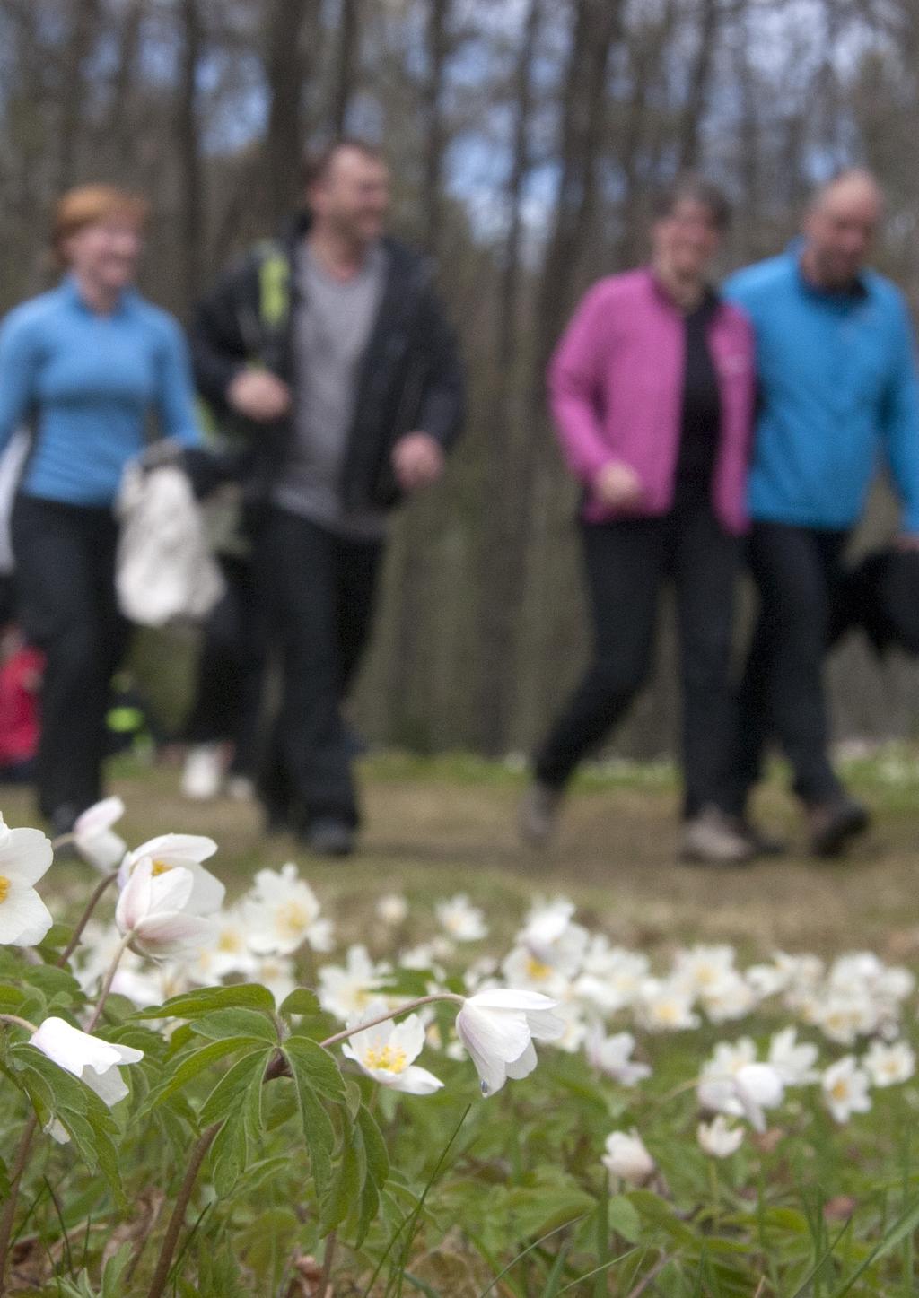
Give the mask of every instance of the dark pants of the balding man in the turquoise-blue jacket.
[[790, 762], [794, 792], [805, 802], [828, 802], [842, 793], [827, 753], [823, 661], [848, 539], [848, 532], [784, 523], [753, 526], [749, 562], [759, 619], [740, 691], [737, 811], [761, 775], [772, 737]]

